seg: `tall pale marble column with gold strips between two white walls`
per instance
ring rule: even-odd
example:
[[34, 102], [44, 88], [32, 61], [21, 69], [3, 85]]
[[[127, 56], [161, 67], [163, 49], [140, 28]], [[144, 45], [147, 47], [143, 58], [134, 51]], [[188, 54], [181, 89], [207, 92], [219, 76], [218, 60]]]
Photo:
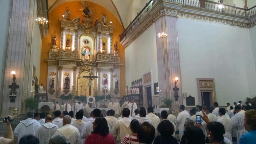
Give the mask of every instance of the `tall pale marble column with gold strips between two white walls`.
[[[183, 104], [180, 78], [180, 60], [177, 35], [177, 17], [162, 16], [156, 21], [156, 35], [164, 32], [166, 38], [157, 37], [157, 61], [158, 61], [158, 85], [161, 90], [159, 94], [161, 101], [166, 98], [173, 100], [171, 106], [173, 111], [178, 111], [179, 105]], [[179, 78], [177, 83], [178, 101], [174, 98], [174, 79]]]

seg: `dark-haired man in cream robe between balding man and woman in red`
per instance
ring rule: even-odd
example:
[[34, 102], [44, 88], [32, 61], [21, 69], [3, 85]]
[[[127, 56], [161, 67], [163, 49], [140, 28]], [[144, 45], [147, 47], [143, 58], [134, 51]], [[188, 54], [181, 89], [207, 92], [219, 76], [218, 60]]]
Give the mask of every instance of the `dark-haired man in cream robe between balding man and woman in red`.
[[[78, 131], [80, 132], [80, 135], [86, 123], [82, 120], [82, 118], [83, 118], [83, 113], [81, 111], [78, 111], [76, 113], [76, 120], [73, 123], [71, 123], [71, 125], [73, 125], [78, 129]], [[81, 138], [81, 144], [84, 144], [84, 143], [85, 143], [85, 138]]]

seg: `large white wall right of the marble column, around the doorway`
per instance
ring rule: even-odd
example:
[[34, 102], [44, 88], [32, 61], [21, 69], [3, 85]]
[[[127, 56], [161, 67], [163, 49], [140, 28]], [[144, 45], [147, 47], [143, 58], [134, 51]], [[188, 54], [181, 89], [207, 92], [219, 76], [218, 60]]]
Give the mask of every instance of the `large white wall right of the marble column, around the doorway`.
[[256, 95], [249, 29], [183, 18], [177, 23], [182, 92], [195, 97], [196, 105], [196, 78], [214, 78], [220, 106]]

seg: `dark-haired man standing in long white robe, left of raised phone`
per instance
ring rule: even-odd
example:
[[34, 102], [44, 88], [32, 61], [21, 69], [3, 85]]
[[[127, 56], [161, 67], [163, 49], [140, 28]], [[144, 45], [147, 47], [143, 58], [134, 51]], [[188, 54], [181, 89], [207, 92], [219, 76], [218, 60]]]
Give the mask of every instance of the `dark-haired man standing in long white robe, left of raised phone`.
[[189, 113], [187, 111], [184, 111], [184, 110], [185, 110], [185, 106], [180, 105], [179, 114], [178, 114], [177, 119], [176, 119], [176, 124], [178, 125], [179, 137], [180, 138], [183, 136], [185, 120], [187, 118], [190, 118]]

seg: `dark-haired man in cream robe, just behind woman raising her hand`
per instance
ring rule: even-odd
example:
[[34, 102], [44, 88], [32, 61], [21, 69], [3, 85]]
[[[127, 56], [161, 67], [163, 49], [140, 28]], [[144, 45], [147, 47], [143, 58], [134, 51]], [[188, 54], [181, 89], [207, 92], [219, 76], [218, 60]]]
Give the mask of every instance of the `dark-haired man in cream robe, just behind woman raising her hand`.
[[220, 122], [224, 125], [225, 136], [232, 142], [231, 130], [233, 127], [232, 120], [226, 115], [226, 110], [224, 108], [219, 109], [220, 118], [217, 119], [217, 122]]

